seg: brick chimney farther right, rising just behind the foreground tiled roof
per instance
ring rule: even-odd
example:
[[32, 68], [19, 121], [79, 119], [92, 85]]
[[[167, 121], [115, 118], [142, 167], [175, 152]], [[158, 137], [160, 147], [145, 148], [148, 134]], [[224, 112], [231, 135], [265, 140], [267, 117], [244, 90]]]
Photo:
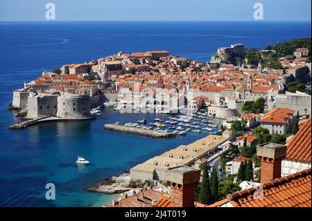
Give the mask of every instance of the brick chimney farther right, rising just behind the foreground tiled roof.
[[261, 184], [281, 177], [281, 161], [286, 157], [286, 145], [257, 145], [257, 156], [261, 160]]

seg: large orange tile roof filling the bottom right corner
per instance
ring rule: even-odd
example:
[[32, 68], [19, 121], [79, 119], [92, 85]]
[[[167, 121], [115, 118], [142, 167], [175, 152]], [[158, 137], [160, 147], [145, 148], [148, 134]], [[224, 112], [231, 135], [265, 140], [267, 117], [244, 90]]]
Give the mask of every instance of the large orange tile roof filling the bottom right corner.
[[234, 207], [311, 207], [311, 168], [229, 194], [227, 200], [209, 206], [227, 202]]

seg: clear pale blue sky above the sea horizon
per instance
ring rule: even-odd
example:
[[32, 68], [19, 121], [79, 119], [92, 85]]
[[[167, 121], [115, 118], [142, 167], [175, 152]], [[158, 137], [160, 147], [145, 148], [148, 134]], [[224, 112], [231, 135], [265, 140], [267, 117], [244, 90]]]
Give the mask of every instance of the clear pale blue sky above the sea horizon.
[[258, 2], [264, 21], [311, 21], [311, 0], [0, 0], [0, 21], [45, 21], [46, 3], [56, 21], [245, 21]]

